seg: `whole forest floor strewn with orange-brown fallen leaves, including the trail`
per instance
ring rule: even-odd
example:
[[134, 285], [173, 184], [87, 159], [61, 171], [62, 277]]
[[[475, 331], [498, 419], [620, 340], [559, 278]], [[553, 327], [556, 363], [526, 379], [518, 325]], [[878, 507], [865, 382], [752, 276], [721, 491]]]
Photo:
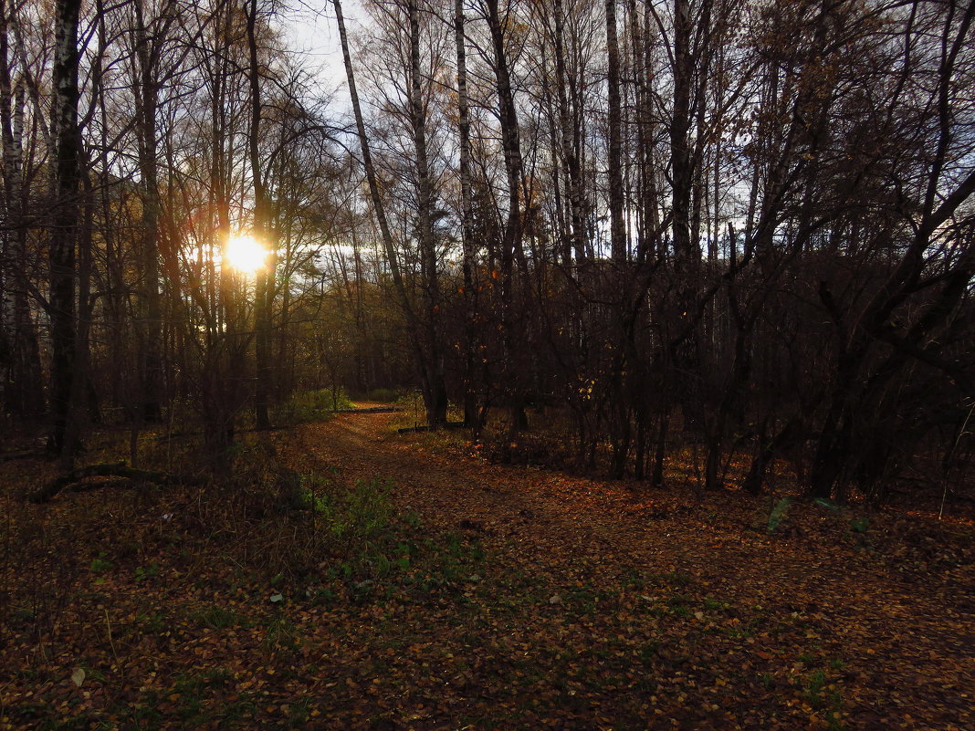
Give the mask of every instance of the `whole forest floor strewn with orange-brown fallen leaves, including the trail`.
[[975, 728], [970, 521], [495, 465], [395, 418], [253, 437], [219, 487], [37, 506], [53, 468], [0, 463], [0, 728]]

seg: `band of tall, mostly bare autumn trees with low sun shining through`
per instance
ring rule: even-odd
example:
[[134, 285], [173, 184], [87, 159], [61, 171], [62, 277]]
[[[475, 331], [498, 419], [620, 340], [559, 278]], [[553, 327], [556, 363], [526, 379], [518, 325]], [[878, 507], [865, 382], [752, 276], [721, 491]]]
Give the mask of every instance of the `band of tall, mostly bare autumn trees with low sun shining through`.
[[96, 403], [219, 455], [344, 380], [654, 484], [967, 464], [972, 4], [332, 0], [347, 112], [278, 3], [71, 6], [0, 0], [3, 394], [65, 459]]

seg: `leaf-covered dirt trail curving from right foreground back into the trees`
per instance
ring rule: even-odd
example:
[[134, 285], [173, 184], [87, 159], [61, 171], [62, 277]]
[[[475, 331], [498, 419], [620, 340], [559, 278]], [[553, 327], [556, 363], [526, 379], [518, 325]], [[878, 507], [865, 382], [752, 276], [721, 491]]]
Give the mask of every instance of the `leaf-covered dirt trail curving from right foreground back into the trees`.
[[[769, 536], [761, 515], [754, 527], [756, 503], [740, 493], [701, 504], [686, 489], [637, 492], [489, 464], [456, 447], [431, 447], [422, 435], [399, 435], [392, 418], [345, 413], [297, 427], [280, 446], [297, 469], [350, 483], [390, 481], [393, 500], [424, 524], [478, 534], [498, 570], [526, 570], [554, 587], [578, 583], [580, 572], [604, 584], [643, 572], [709, 606], [748, 607], [764, 628], [742, 633], [734, 654], [787, 675], [810, 655], [832, 658], [842, 669], [829, 674], [844, 688], [849, 727], [975, 728], [970, 565], [934, 577], [898, 571], [900, 558], [853, 545], [848, 519], [851, 540], [835, 540], [842, 520], [825, 509], [797, 507], [786, 534]], [[764, 643], [797, 633], [807, 640], [806, 657]], [[758, 674], [767, 682], [769, 673]]]

